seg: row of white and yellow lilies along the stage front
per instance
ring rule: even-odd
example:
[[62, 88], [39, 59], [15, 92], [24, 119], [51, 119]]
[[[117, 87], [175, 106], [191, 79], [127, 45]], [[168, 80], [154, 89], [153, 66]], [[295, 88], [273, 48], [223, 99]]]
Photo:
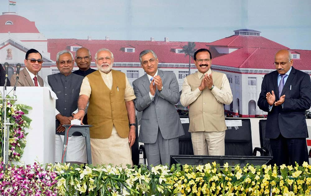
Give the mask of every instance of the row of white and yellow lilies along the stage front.
[[280, 170], [271, 165], [220, 167], [215, 162], [173, 165], [170, 170], [69, 164], [55, 169], [59, 195], [309, 195], [311, 190], [311, 166], [306, 162]]

